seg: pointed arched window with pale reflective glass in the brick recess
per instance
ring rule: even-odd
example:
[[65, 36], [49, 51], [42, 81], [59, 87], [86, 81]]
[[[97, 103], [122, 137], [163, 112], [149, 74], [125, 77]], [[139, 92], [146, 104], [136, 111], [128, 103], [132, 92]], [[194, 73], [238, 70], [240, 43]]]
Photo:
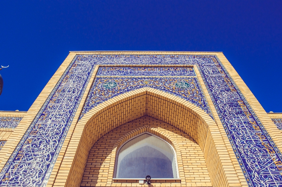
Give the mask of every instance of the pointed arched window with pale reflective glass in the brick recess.
[[142, 133], [127, 140], [117, 151], [115, 178], [178, 178], [176, 154], [165, 140]]

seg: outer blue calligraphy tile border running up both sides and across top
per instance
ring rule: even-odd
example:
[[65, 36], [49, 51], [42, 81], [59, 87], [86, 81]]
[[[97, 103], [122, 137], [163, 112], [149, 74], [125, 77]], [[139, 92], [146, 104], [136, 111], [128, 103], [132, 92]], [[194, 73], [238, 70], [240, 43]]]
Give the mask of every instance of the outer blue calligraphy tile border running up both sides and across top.
[[197, 64], [248, 185], [282, 186], [281, 153], [214, 55], [77, 55], [1, 171], [0, 186], [46, 186], [95, 64]]

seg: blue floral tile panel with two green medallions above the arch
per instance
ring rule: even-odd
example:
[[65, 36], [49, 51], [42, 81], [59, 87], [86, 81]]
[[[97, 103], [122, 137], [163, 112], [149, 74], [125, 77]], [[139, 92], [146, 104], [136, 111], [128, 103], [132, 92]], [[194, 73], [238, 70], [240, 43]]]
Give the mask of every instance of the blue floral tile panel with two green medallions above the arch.
[[192, 102], [212, 117], [196, 77], [98, 77], [90, 90], [80, 118], [100, 103], [131, 90], [156, 88]]

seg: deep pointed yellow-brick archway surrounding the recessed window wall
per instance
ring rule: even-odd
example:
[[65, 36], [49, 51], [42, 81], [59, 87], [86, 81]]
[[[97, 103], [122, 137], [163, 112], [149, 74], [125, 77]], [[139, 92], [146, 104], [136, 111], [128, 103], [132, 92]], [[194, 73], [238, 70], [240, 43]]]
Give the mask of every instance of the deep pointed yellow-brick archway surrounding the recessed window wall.
[[192, 103], [152, 88], [116, 96], [83, 116], [75, 126], [58, 171], [57, 176], [65, 176], [66, 182], [58, 186], [80, 186], [94, 143], [111, 130], [144, 115], [182, 130], [197, 142], [203, 150], [212, 186], [241, 186], [214, 120]]

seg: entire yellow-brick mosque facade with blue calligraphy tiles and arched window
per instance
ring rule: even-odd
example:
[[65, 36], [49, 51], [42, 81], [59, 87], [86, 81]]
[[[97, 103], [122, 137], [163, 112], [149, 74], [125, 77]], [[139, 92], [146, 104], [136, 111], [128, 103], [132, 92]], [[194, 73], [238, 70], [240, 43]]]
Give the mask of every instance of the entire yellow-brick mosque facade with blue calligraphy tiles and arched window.
[[281, 133], [222, 52], [70, 52], [0, 112], [0, 186], [278, 187]]

